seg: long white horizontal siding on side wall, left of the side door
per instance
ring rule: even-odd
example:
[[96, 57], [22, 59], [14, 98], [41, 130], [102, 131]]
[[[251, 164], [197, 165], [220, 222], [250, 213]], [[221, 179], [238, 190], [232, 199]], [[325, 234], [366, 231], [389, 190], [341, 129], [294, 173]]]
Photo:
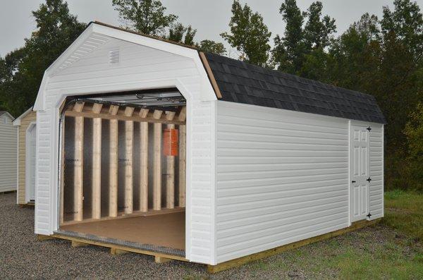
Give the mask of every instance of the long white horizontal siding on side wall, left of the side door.
[[216, 130], [217, 262], [348, 226], [348, 120], [217, 102]]

